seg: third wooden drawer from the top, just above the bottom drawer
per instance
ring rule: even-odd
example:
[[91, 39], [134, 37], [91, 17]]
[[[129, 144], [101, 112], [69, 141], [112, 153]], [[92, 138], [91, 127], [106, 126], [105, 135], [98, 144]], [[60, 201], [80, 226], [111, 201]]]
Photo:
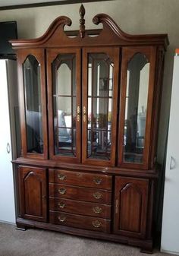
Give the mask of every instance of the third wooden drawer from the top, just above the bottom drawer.
[[49, 205], [50, 210], [111, 219], [111, 206], [107, 204], [74, 201], [64, 198], [49, 198]]

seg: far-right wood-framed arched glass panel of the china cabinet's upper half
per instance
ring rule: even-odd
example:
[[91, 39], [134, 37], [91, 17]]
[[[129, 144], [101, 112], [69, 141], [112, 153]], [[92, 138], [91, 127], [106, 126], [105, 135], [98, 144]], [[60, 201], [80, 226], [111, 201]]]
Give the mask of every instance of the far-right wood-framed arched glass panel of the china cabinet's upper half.
[[118, 164], [146, 169], [152, 125], [155, 50], [152, 47], [124, 48], [123, 56]]

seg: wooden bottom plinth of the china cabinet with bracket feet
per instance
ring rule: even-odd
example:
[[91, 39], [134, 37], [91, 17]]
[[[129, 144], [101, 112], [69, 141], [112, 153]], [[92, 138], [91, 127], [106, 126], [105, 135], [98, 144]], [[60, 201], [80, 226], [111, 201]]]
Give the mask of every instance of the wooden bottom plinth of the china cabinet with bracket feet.
[[17, 229], [18, 228], [20, 228], [21, 230], [27, 228], [49, 229], [53, 231], [64, 232], [69, 235], [79, 235], [86, 238], [102, 239], [111, 242], [120, 242], [125, 245], [140, 247], [141, 252], [152, 254], [152, 239], [134, 239], [130, 237], [124, 237], [122, 235], [96, 232], [85, 229], [76, 229], [68, 226], [55, 225], [51, 223], [42, 223], [34, 220], [25, 220], [22, 218], [17, 218]]

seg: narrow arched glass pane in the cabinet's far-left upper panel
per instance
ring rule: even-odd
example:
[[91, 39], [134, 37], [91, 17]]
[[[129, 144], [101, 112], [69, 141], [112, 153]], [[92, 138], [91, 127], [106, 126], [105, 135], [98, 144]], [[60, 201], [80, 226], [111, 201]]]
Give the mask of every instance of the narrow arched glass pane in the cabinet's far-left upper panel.
[[40, 64], [29, 55], [24, 64], [27, 153], [43, 153]]

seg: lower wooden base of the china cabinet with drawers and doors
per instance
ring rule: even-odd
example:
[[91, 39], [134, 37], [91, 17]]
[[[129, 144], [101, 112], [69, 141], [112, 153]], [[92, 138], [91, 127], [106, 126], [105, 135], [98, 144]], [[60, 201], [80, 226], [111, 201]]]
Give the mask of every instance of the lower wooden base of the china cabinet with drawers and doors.
[[50, 229], [152, 253], [157, 172], [119, 172], [17, 165], [17, 229]]

